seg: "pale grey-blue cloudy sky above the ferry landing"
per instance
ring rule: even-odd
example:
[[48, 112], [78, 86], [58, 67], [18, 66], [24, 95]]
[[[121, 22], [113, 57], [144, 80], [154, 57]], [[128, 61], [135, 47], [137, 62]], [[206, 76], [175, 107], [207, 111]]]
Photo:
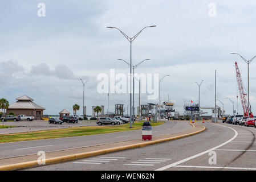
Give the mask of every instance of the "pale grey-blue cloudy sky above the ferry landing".
[[[46, 16], [38, 16], [38, 3], [46, 6]], [[216, 5], [216, 16], [211, 16]], [[133, 64], [151, 59], [137, 73], [159, 73], [161, 100], [169, 98], [177, 111], [184, 102], [198, 102], [196, 81], [201, 85], [201, 106], [214, 106], [214, 71], [217, 69], [217, 98], [227, 113], [237, 109], [239, 96], [234, 62], [238, 62], [247, 90], [246, 59], [256, 55], [256, 2], [244, 1], [0, 1], [0, 97], [15, 102], [23, 94], [46, 108], [44, 114], [72, 111], [81, 106], [86, 84], [87, 114], [92, 105], [105, 105], [107, 94], [97, 92], [100, 73], [128, 74], [128, 66], [117, 59], [129, 60], [128, 36], [146, 28], [132, 46]], [[210, 14], [209, 14], [210, 12]], [[250, 102], [256, 109], [256, 60], [250, 64]], [[147, 100], [142, 94], [141, 104]], [[109, 111], [115, 104], [129, 104], [129, 94], [109, 94]], [[139, 96], [135, 95], [135, 105]], [[218, 105], [222, 106], [220, 102]], [[208, 110], [209, 111], [209, 110]], [[242, 106], [238, 100], [238, 111]]]

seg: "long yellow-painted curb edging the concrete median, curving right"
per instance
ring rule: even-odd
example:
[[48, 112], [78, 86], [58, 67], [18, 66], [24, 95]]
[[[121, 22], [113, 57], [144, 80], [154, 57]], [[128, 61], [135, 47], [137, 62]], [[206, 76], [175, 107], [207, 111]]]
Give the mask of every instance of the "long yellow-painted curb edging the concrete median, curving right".
[[[60, 157], [56, 157], [56, 158], [50, 158], [50, 159], [45, 160], [46, 164], [44, 164], [44, 165], [67, 162], [67, 161], [70, 161], [70, 160], [88, 158], [88, 157], [91, 157], [91, 156], [108, 154], [108, 153], [111, 153], [111, 152], [128, 150], [128, 149], [131, 149], [131, 148], [144, 147], [144, 146], [148, 146], [150, 144], [167, 142], [169, 140], [189, 137], [191, 135], [201, 133], [205, 129], [206, 129], [206, 127], [204, 126], [204, 128], [201, 129], [201, 130], [198, 130], [198, 131], [195, 131], [195, 132], [189, 133], [189, 134], [179, 135], [179, 136], [176, 136], [176, 137], [170, 137], [170, 138], [148, 141], [148, 142], [144, 142], [144, 143], [131, 144], [131, 145], [122, 146], [122, 147], [113, 147], [113, 148], [107, 148], [107, 149], [104, 149], [104, 150], [83, 152], [83, 153], [80, 153], [80, 154], [72, 154], [72, 155], [67, 155], [67, 156], [60, 156]], [[0, 166], [0, 171], [10, 171], [10, 170], [17, 170], [17, 169], [24, 169], [24, 168], [31, 168], [31, 167], [39, 167], [39, 166], [42, 166], [42, 165], [38, 164], [37, 160], [34, 160], [34, 161], [31, 161], [31, 162], [24, 162], [24, 163], [17, 163], [17, 164], [10, 164], [10, 165], [6, 165], [6, 166]]]

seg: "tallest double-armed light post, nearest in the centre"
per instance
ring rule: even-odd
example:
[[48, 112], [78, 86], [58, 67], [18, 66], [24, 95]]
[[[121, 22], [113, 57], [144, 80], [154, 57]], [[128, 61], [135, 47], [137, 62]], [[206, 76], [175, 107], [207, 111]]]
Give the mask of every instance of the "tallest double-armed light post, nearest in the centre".
[[[147, 26], [144, 27], [143, 29], [141, 29], [141, 31], [137, 32], [137, 34], [135, 34], [135, 36], [133, 36], [132, 38], [129, 38], [129, 36], [127, 36], [126, 34], [124, 34], [123, 31], [121, 31], [119, 28], [116, 27], [107, 27], [107, 28], [115, 28], [117, 30], [119, 30], [121, 32], [121, 34], [130, 42], [130, 77], [132, 76], [132, 42], [133, 40], [135, 40], [137, 38], [137, 36], [140, 35], [140, 33], [145, 29], [145, 28], [151, 28], [151, 27], [156, 27], [155, 25], [153, 26]], [[130, 128], [132, 127], [132, 77], [130, 80]]]

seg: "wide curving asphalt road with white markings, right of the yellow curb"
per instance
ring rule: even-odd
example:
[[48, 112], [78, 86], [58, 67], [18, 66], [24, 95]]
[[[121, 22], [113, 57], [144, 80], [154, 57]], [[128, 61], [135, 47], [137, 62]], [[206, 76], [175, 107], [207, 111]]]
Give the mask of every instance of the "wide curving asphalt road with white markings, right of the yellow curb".
[[204, 125], [191, 137], [27, 170], [256, 170], [254, 127]]

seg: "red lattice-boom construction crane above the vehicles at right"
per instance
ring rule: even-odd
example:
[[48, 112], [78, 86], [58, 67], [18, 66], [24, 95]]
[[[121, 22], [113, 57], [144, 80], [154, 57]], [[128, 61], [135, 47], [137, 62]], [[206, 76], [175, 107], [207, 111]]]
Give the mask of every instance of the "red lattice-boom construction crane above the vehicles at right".
[[247, 103], [246, 100], [246, 93], [245, 90], [243, 89], [243, 82], [242, 82], [242, 77], [241, 73], [238, 69], [237, 62], [235, 62], [235, 72], [237, 73], [237, 84], [238, 84], [238, 89], [239, 89], [239, 94], [242, 102], [242, 107], [243, 107], [243, 116], [247, 117], [249, 113], [249, 117], [253, 117], [253, 113], [251, 113], [251, 105]]

